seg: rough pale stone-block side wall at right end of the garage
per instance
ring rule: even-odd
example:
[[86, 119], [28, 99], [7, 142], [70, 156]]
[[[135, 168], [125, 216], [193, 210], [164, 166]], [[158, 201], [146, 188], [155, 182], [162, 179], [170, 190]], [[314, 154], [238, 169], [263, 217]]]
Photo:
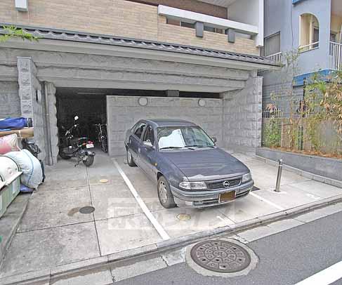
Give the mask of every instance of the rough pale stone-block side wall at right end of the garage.
[[223, 93], [225, 147], [255, 153], [261, 146], [262, 79], [251, 72], [241, 91]]

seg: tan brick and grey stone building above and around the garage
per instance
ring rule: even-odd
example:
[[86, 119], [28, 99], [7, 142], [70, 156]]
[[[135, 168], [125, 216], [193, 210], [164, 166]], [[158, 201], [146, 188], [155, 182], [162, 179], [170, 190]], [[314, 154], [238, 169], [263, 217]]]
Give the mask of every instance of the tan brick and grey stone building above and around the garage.
[[[38, 41], [0, 44], [0, 117], [32, 117], [43, 159], [55, 164], [63, 126], [78, 115], [107, 124], [109, 154], [142, 118], [201, 125], [218, 145], [261, 145], [258, 70], [263, 0], [3, 0], [0, 23]], [[4, 32], [4, 30], [1, 30]], [[142, 99], [143, 98], [143, 99]]]

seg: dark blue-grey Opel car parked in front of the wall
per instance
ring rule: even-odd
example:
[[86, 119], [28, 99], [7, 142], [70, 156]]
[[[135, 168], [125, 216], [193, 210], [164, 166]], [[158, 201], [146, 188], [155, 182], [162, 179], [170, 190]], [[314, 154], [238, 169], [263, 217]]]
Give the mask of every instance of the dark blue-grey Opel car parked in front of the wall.
[[165, 208], [225, 204], [248, 194], [254, 181], [241, 161], [189, 121], [140, 120], [126, 133], [129, 166], [157, 181]]

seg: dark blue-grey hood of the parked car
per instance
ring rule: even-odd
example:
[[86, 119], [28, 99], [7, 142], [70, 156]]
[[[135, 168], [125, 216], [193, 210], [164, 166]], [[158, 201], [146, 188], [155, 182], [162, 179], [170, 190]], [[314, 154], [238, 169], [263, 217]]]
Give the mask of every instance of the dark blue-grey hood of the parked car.
[[216, 180], [242, 175], [249, 168], [219, 148], [162, 152], [190, 181]]

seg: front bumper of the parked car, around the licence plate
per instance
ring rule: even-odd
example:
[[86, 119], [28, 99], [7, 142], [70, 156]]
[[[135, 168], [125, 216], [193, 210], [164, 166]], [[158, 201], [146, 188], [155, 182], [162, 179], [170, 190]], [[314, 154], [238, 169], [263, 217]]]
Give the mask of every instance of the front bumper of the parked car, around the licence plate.
[[175, 203], [179, 207], [183, 208], [204, 208], [216, 205], [227, 204], [232, 201], [224, 201], [220, 202], [219, 197], [220, 194], [225, 192], [235, 191], [235, 199], [245, 197], [249, 192], [251, 192], [254, 185], [254, 180], [251, 180], [242, 185], [231, 187], [229, 189], [221, 189], [221, 190], [206, 190], [206, 191], [184, 191], [180, 190], [176, 187], [171, 187], [171, 192], [173, 194], [173, 198]]

